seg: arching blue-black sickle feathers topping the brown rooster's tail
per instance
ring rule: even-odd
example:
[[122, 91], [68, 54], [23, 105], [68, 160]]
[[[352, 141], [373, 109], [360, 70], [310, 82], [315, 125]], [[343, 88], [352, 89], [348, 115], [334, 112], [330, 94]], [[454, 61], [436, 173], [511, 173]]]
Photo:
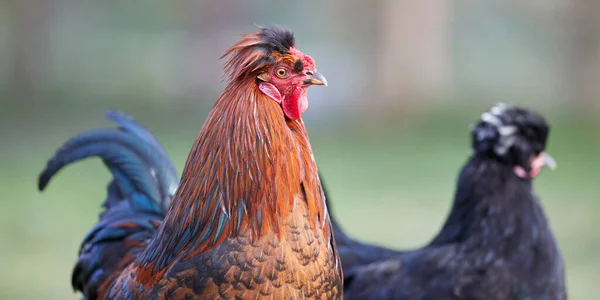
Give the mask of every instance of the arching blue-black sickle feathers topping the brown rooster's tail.
[[[38, 181], [44, 190], [50, 179], [66, 165], [88, 157], [100, 157], [111, 171], [121, 195], [130, 196], [134, 208], [163, 211], [179, 184], [177, 172], [156, 138], [130, 116], [108, 111], [119, 129], [92, 129], [69, 139], [48, 161]], [[144, 203], [143, 195], [152, 200]]]

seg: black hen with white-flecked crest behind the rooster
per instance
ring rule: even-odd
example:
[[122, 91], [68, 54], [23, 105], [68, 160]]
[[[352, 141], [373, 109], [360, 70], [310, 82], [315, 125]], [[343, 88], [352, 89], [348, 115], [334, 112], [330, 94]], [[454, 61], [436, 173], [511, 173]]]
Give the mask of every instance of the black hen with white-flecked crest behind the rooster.
[[566, 299], [561, 253], [531, 187], [555, 165], [548, 131], [515, 106], [483, 113], [450, 215], [423, 248], [360, 243], [335, 225], [345, 299]]

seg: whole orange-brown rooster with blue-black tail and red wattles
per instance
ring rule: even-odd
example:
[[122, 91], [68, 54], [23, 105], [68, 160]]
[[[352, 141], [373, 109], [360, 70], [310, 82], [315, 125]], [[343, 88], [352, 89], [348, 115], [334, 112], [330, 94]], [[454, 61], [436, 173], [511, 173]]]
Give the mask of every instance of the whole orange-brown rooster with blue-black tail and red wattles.
[[165, 179], [174, 169], [154, 137], [118, 114], [120, 130], [76, 136], [40, 176], [43, 189], [66, 164], [100, 156], [115, 178], [73, 272], [88, 299], [341, 299], [301, 119], [307, 88], [325, 78], [281, 27], [244, 35], [224, 57], [228, 85], [179, 183]]

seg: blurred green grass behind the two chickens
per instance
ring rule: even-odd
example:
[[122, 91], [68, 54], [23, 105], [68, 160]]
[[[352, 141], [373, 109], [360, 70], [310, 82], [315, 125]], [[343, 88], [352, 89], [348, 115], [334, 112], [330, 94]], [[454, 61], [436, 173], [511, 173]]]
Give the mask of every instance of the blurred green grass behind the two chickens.
[[[181, 171], [205, 113], [126, 111], [157, 134]], [[469, 155], [468, 125], [478, 114], [428, 112], [370, 129], [309, 124], [332, 210], [347, 231], [392, 247], [428, 241], [448, 212], [457, 172]], [[600, 123], [567, 113], [551, 116], [548, 151], [559, 167], [544, 172], [535, 188], [566, 260], [570, 299], [593, 299], [600, 277]], [[107, 122], [100, 110], [3, 119], [0, 299], [77, 299], [70, 273], [79, 243], [96, 221], [109, 174], [93, 160], [61, 172], [42, 194], [36, 180], [63, 141]]]

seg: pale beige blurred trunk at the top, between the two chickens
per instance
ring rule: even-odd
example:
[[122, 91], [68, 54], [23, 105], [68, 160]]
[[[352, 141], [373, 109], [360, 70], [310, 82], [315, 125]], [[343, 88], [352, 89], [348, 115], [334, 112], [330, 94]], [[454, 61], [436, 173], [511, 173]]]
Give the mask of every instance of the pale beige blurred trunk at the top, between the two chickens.
[[382, 104], [403, 106], [447, 87], [452, 11], [451, 0], [382, 0], [377, 45]]

